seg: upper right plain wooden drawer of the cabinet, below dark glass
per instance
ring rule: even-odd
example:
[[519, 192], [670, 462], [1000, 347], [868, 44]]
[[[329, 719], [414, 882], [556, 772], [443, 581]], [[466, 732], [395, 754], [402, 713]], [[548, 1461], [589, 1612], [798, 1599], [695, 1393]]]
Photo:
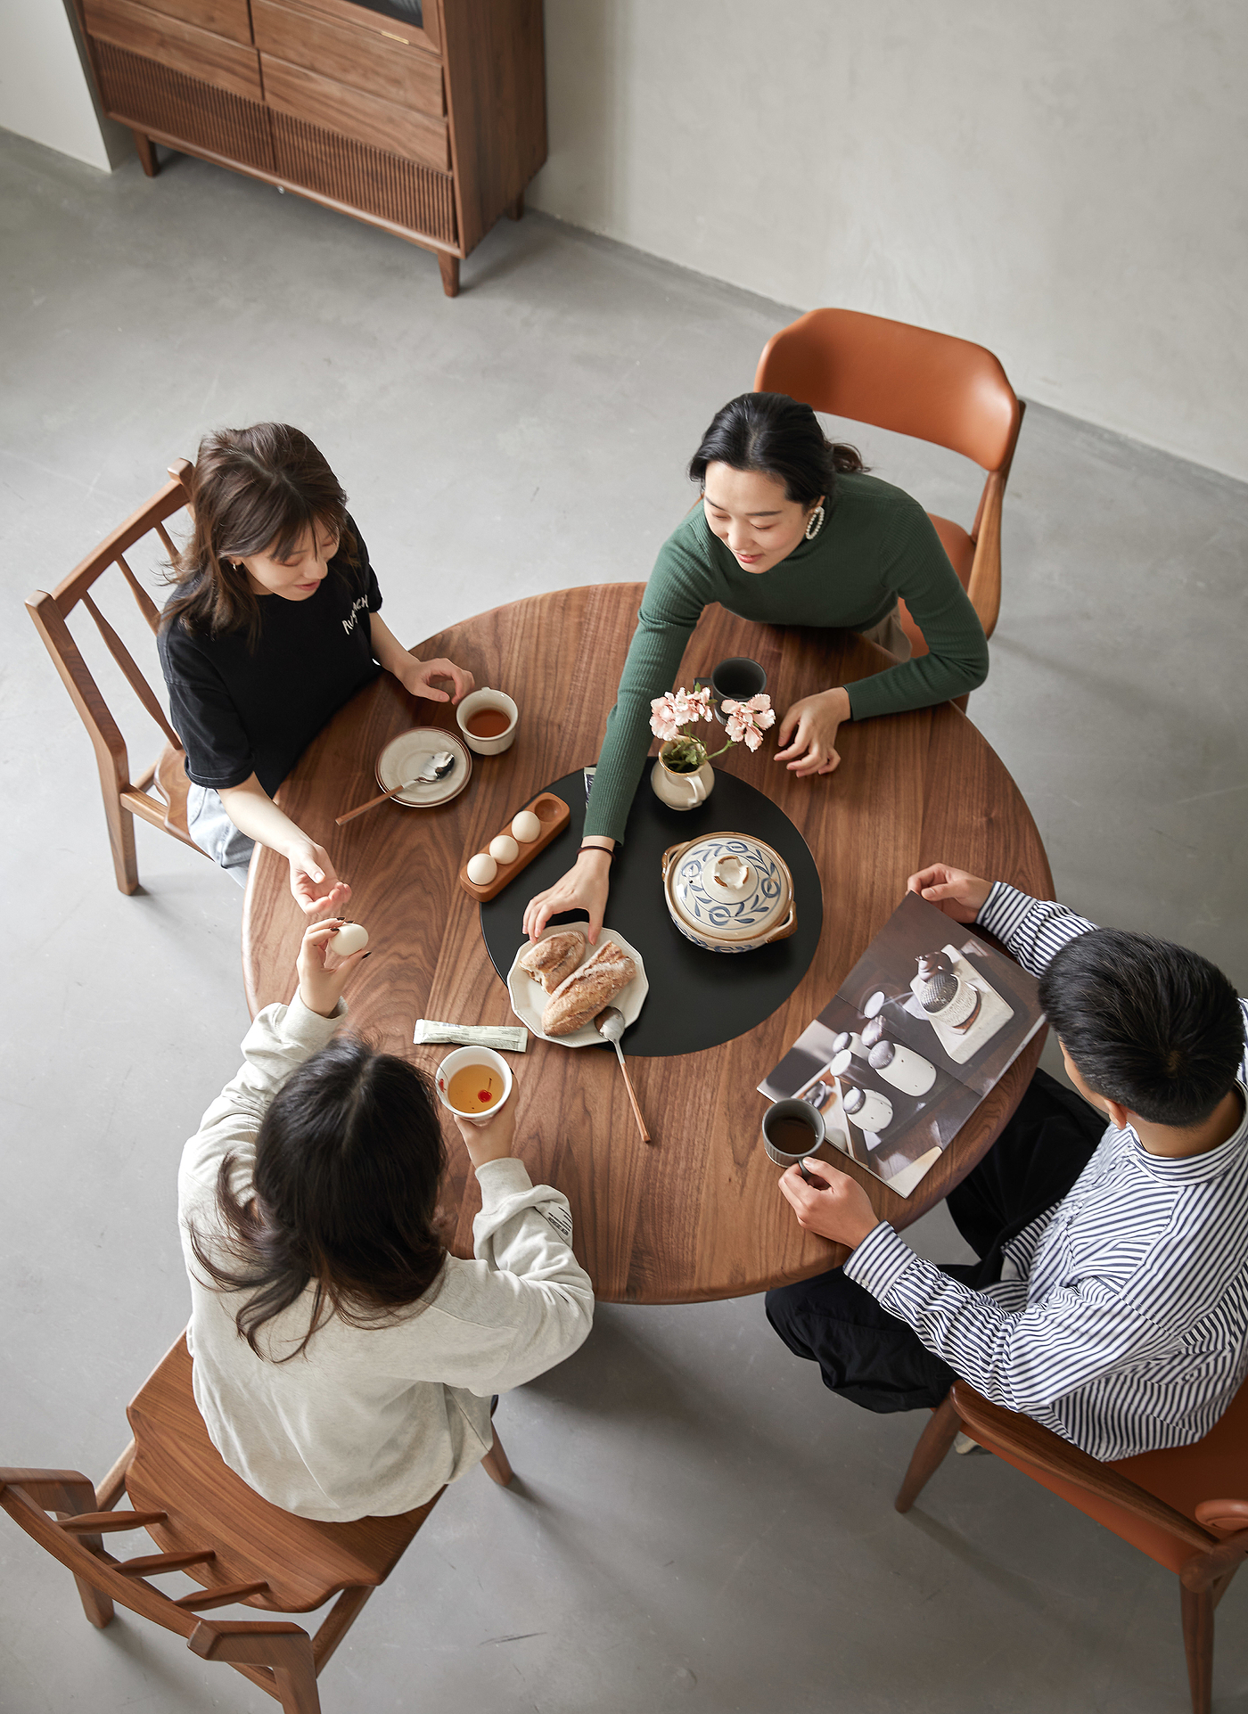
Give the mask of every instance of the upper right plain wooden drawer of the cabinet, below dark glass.
[[350, 84], [369, 96], [417, 108], [442, 118], [442, 67], [439, 60], [394, 41], [381, 31], [351, 29], [310, 12], [252, 0], [255, 46], [286, 65]]

